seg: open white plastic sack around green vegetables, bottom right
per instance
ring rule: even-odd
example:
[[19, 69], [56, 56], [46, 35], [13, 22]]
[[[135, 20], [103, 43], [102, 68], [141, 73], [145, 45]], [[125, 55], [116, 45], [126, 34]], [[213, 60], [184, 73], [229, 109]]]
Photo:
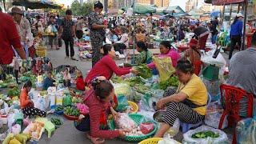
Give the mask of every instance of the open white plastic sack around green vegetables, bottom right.
[[[218, 138], [191, 138], [193, 134], [201, 132], [201, 131], [207, 131], [210, 130], [214, 132], [215, 134], [219, 134]], [[185, 134], [183, 134], [183, 144], [188, 143], [199, 143], [199, 144], [218, 144], [218, 143], [228, 143], [228, 138], [226, 136], [226, 133], [224, 133], [222, 130], [214, 129], [209, 126], [200, 126], [194, 130], [189, 130]]]

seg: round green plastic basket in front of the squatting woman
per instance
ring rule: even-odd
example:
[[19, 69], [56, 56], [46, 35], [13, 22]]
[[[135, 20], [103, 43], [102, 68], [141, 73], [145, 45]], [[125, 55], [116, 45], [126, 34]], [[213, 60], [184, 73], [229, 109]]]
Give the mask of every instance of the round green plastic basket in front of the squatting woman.
[[[138, 125], [141, 124], [142, 122], [149, 122], [146, 121], [146, 118], [142, 116], [141, 114], [129, 114], [129, 117], [134, 120]], [[154, 123], [154, 130], [150, 132], [150, 134], [144, 134], [142, 136], [125, 136], [124, 140], [127, 142], [141, 142], [144, 139], [150, 138], [155, 134], [155, 132], [158, 130], [158, 125], [154, 121], [150, 121]]]

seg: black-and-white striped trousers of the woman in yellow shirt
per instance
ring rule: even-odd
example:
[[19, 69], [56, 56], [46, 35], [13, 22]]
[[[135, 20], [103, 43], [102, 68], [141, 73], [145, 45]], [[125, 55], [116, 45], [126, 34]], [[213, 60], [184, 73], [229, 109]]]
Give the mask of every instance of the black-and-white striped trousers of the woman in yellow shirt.
[[177, 118], [181, 122], [195, 124], [201, 122], [205, 116], [198, 114], [195, 110], [190, 108], [190, 106], [186, 106], [182, 102], [170, 102], [163, 118], [163, 122], [169, 126], [174, 126], [174, 122]]

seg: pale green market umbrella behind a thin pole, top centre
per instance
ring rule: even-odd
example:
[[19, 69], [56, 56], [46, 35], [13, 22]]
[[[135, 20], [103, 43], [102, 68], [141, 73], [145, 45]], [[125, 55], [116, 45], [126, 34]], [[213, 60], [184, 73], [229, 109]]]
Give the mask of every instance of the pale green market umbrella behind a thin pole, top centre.
[[[132, 6], [133, 7], [133, 6]], [[128, 10], [129, 7], [123, 7], [122, 10]], [[135, 3], [134, 4], [134, 13], [135, 14], [150, 14], [155, 13], [156, 8], [154, 5], [142, 5]]]

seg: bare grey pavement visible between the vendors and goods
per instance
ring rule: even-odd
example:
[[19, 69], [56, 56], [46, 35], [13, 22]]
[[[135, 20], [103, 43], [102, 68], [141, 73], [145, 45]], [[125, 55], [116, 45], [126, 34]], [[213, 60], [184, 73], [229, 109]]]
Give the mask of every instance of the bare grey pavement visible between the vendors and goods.
[[[75, 47], [75, 58], [78, 59], [78, 48]], [[133, 50], [130, 51], [130, 54], [132, 54]], [[224, 58], [227, 59], [227, 54], [223, 54]], [[85, 61], [74, 61], [70, 60], [69, 58], [65, 58], [65, 47], [62, 46], [62, 49], [60, 50], [47, 50], [47, 57], [50, 58], [51, 62], [53, 63], [54, 67], [60, 66], [60, 65], [71, 65], [71, 66], [77, 66], [79, 70], [82, 70], [82, 73], [86, 74], [87, 70], [90, 70], [91, 68], [91, 61], [85, 60]], [[117, 63], [122, 63], [123, 60], [118, 60]], [[224, 130], [226, 134], [228, 134], [228, 137], [231, 139], [234, 134], [234, 128], [228, 128]], [[51, 138], [47, 138], [47, 133], [44, 133], [42, 135], [41, 140], [38, 142], [39, 144], [84, 144], [84, 143], [91, 143], [90, 140], [88, 140], [84, 133], [76, 130], [74, 128], [73, 122], [65, 120], [63, 126], [58, 128], [54, 131], [54, 134], [52, 134]], [[178, 142], [182, 142], [182, 132], [179, 132], [175, 137], [175, 140]], [[106, 140], [106, 143], [128, 143], [124, 142], [120, 139], [114, 139], [114, 140]]]

